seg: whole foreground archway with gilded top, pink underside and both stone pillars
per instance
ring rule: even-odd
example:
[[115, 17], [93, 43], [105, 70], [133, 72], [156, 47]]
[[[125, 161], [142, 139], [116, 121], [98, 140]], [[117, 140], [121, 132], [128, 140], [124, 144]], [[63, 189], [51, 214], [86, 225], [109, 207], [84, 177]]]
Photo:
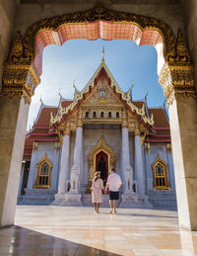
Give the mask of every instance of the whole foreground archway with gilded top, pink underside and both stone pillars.
[[[193, 65], [184, 36], [179, 31], [175, 37], [168, 25], [155, 18], [115, 12], [100, 6], [86, 12], [42, 20], [33, 24], [24, 37], [17, 34], [4, 66], [0, 102], [0, 113], [5, 122], [2, 128], [11, 130], [8, 134], [9, 150], [3, 152], [0, 163], [5, 173], [5, 179], [0, 184], [3, 188], [1, 225], [14, 221], [17, 198], [13, 198], [13, 194], [17, 197], [29, 103], [39, 83], [44, 46], [50, 43], [61, 45], [71, 39], [99, 38], [127, 39], [139, 45], [151, 44], [156, 47], [159, 81], [169, 106], [179, 223], [197, 229], [197, 196], [193, 196], [193, 191], [197, 189], [194, 150], [197, 147], [197, 104]], [[12, 124], [9, 123], [10, 118]], [[17, 146], [19, 139], [20, 148]]]

